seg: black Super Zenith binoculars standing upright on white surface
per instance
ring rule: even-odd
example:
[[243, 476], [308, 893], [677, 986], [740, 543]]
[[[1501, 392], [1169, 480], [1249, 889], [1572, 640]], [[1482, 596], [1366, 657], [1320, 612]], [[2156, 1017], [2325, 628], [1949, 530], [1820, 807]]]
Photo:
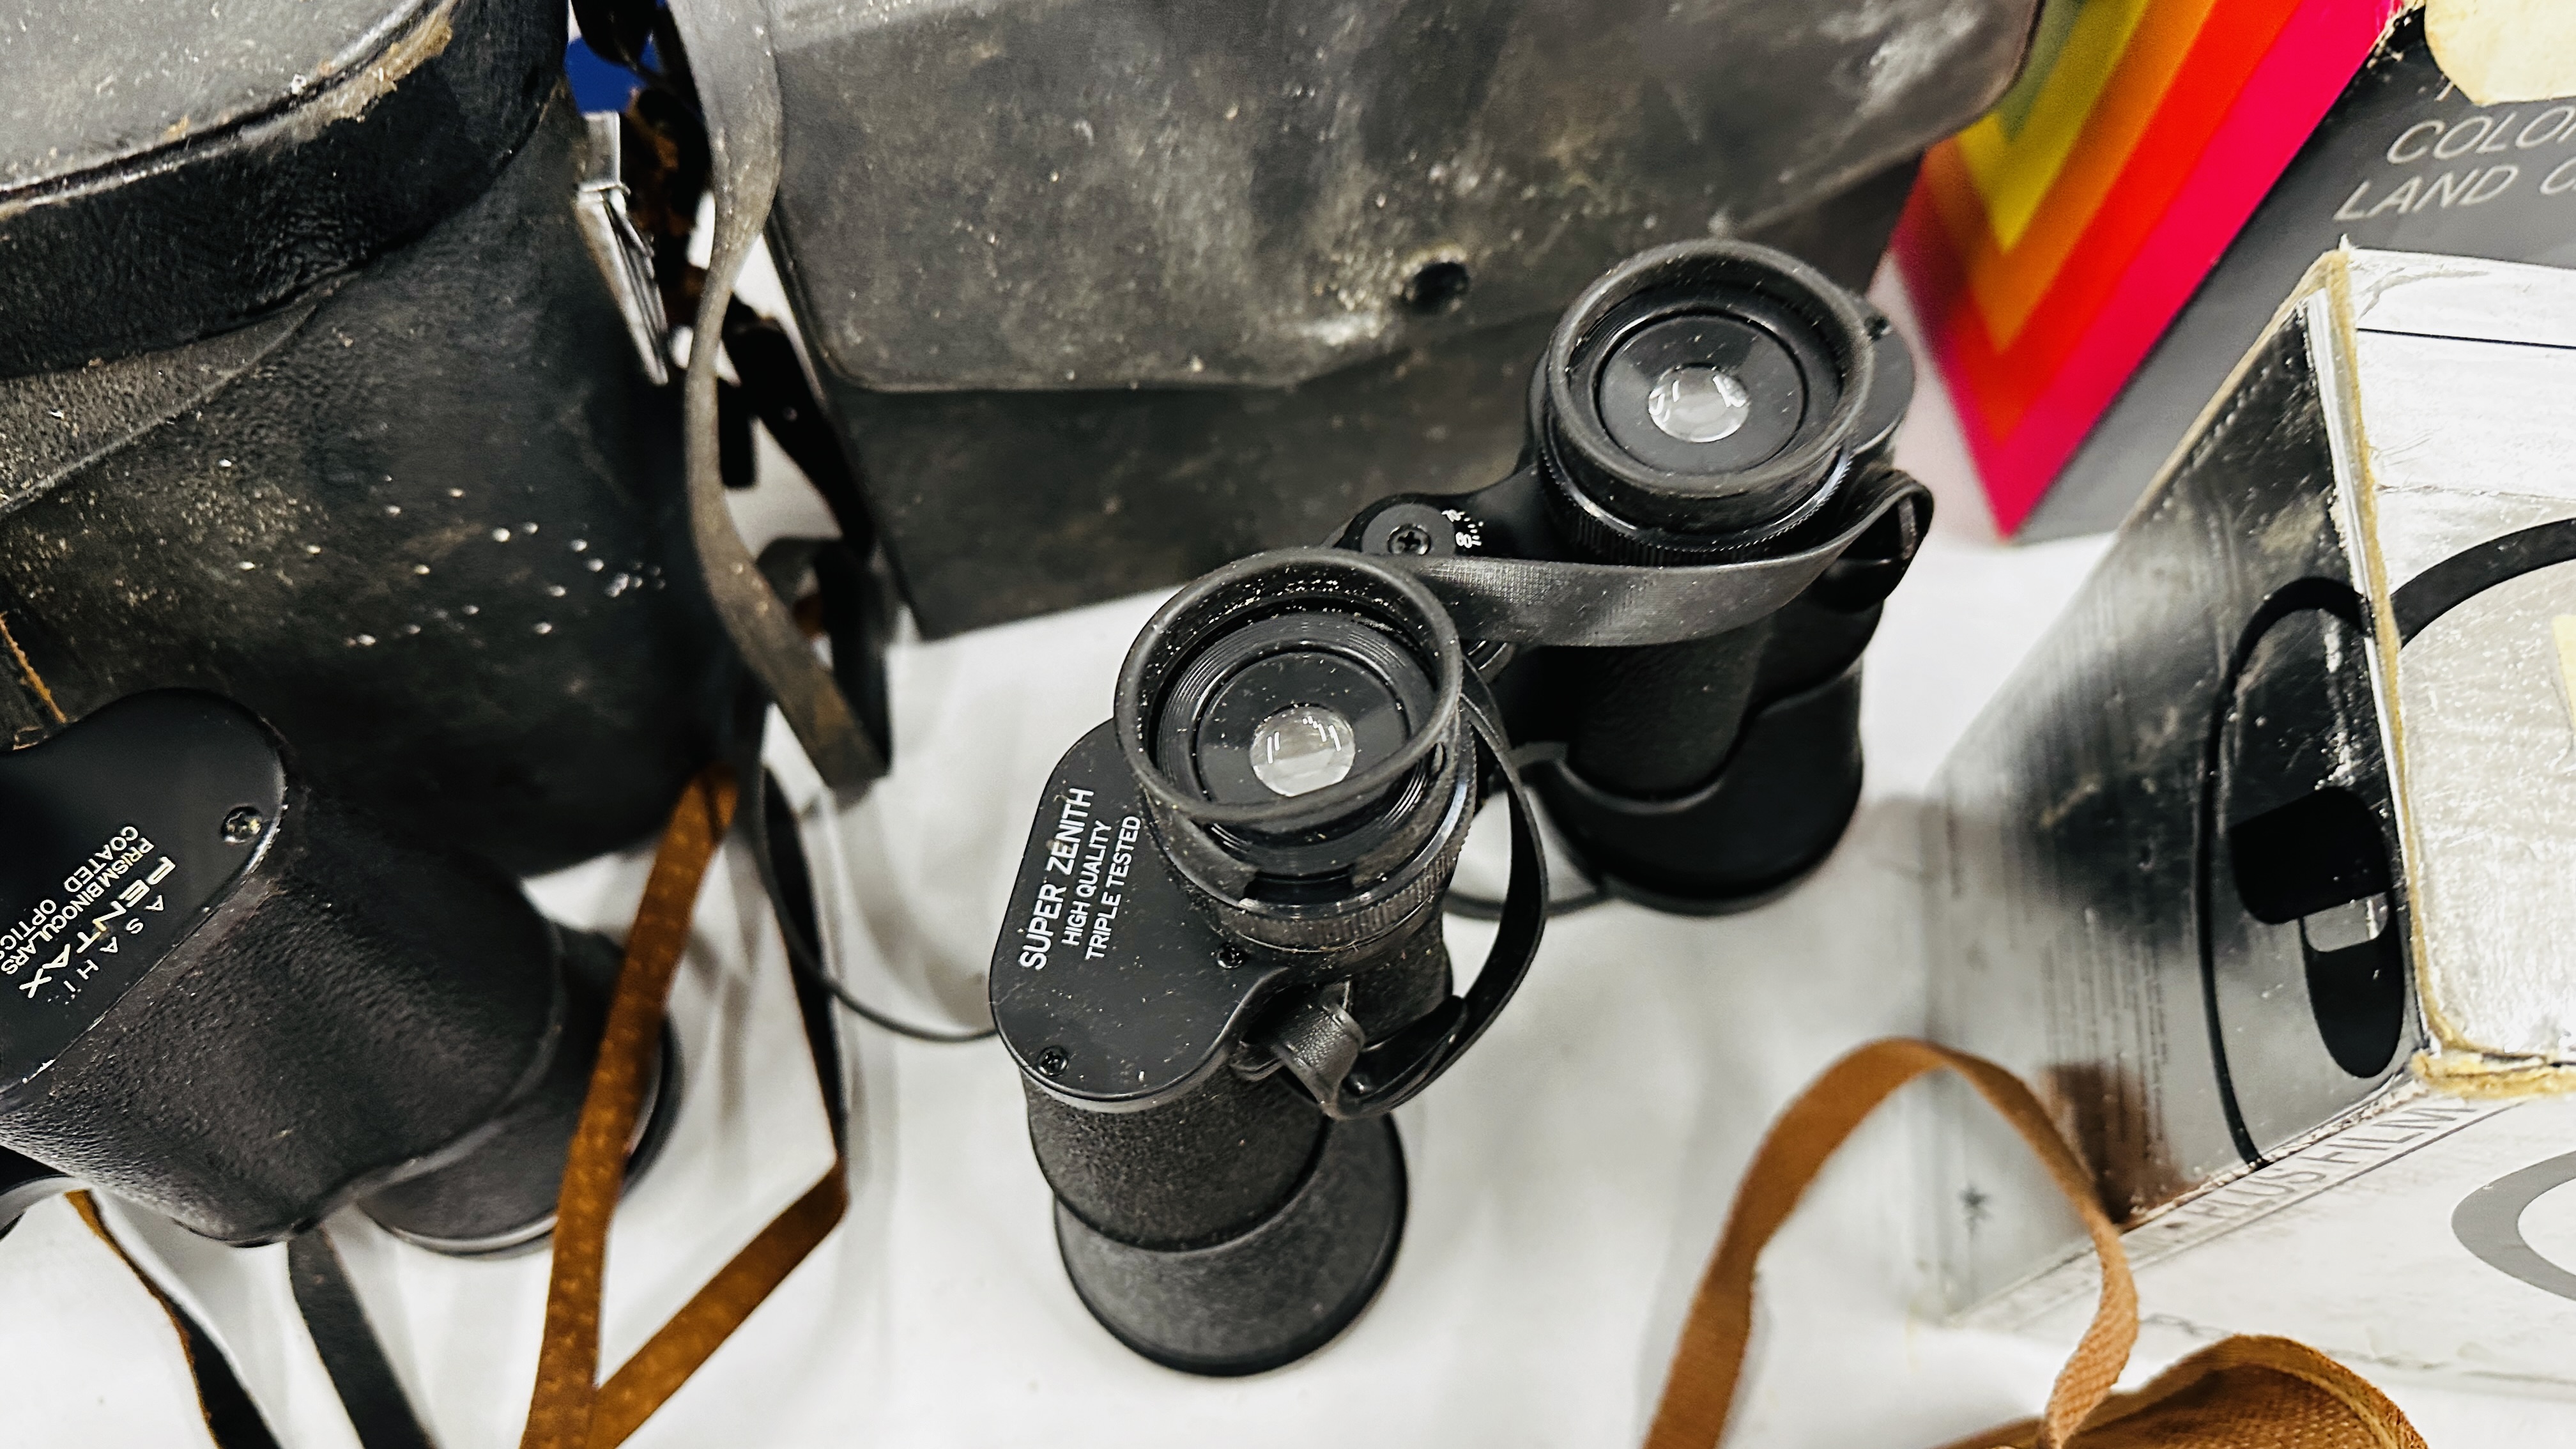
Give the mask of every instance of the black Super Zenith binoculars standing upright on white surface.
[[[1056, 766], [992, 959], [1092, 1315], [1200, 1374], [1293, 1361], [1404, 1225], [1388, 1111], [1512, 998], [1538, 810], [1605, 892], [1741, 910], [1860, 799], [1860, 652], [1929, 492], [1911, 358], [1741, 242], [1631, 258], [1556, 325], [1520, 467], [1370, 505], [1175, 596]], [[1443, 902], [1502, 794], [1512, 877], [1458, 995]]]

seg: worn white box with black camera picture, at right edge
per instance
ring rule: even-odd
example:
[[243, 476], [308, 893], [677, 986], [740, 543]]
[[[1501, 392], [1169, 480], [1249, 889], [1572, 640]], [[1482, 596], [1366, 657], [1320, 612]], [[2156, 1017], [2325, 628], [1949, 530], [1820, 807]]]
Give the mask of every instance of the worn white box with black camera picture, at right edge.
[[[2571, 400], [2576, 273], [2329, 253], [1942, 766], [1935, 1034], [2151, 1318], [2576, 1385]], [[2027, 1155], [1932, 1152], [1953, 1305], [2081, 1315]]]

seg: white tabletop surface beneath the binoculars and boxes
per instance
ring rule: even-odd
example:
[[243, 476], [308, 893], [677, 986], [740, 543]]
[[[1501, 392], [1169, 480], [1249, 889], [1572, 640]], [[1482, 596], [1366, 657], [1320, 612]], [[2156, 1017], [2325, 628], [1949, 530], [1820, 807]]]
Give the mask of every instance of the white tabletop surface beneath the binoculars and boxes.
[[[1607, 905], [1556, 923], [1486, 1042], [1399, 1114], [1404, 1248], [1350, 1333], [1252, 1379], [1136, 1359], [1064, 1281], [999, 1047], [850, 1024], [850, 1217], [634, 1444], [1636, 1444], [1762, 1127], [1842, 1049], [1922, 1029], [1924, 784], [2102, 549], [1994, 541], [1937, 379], [1901, 462], [1937, 490], [1940, 518], [1870, 650], [1870, 776], [1850, 838], [1765, 910], [1677, 920]], [[811, 526], [796, 523], [811, 505], [775, 487], [752, 505], [773, 505], [765, 526]], [[791, 779], [835, 954], [863, 995], [925, 1021], [979, 1018], [981, 959], [1038, 789], [1108, 714], [1151, 606], [907, 645], [896, 773], [845, 817]], [[623, 931], [639, 884], [641, 856], [629, 856], [541, 882], [538, 897]], [[1479, 959], [1484, 926], [1450, 933], [1461, 962]], [[677, 1018], [688, 1109], [621, 1214], [611, 1361], [829, 1158], [783, 962], [739, 859], [701, 902]], [[1772, 1248], [1731, 1444], [1940, 1444], [2045, 1397], [2063, 1343], [1947, 1328], [1924, 1302], [1906, 1111], [1862, 1129]], [[289, 1449], [353, 1444], [286, 1307], [283, 1250], [118, 1222], [206, 1310]], [[515, 1444], [544, 1258], [448, 1263], [348, 1217], [332, 1227], [438, 1441]], [[62, 1204], [0, 1240], [0, 1449], [204, 1441], [165, 1323]], [[2151, 1346], [2133, 1377], [2184, 1348], [2174, 1336]], [[2367, 1372], [2437, 1446], [2576, 1439], [2576, 1403]]]

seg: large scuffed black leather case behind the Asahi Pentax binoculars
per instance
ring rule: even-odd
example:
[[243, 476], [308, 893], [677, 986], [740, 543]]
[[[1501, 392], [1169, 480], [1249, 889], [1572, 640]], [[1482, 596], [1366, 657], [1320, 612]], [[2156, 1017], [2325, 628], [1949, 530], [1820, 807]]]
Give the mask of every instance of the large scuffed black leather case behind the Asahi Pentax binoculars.
[[26, 21], [0, 743], [209, 688], [335, 799], [510, 871], [649, 835], [734, 665], [562, 0]]

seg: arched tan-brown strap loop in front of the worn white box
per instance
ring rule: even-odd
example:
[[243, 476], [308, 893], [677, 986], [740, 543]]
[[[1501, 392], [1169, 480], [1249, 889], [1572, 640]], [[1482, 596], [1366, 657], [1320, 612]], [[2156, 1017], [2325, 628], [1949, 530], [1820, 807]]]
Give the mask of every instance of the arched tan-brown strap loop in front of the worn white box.
[[1826, 1067], [1772, 1122], [1762, 1147], [1754, 1150], [1754, 1160], [1736, 1186], [1718, 1250], [1690, 1299], [1690, 1318], [1682, 1323], [1682, 1341], [1672, 1354], [1672, 1372], [1664, 1379], [1664, 1400], [1654, 1410], [1654, 1426], [1646, 1431], [1646, 1449], [1710, 1449], [1726, 1434], [1754, 1323], [1754, 1261], [1844, 1137], [1896, 1088], [1937, 1067], [1968, 1078], [1968, 1085], [2022, 1134], [2022, 1142], [2048, 1165], [2058, 1191], [2084, 1217], [2084, 1230], [2102, 1258], [2102, 1299], [2048, 1392], [2038, 1446], [2063, 1449], [2110, 1395], [2128, 1364], [2130, 1346], [2138, 1341], [2138, 1289], [2128, 1276], [2120, 1230], [2094, 1199], [2092, 1173], [2058, 1137], [2030, 1088], [2004, 1067], [1929, 1042], [1888, 1039], [1870, 1042]]

